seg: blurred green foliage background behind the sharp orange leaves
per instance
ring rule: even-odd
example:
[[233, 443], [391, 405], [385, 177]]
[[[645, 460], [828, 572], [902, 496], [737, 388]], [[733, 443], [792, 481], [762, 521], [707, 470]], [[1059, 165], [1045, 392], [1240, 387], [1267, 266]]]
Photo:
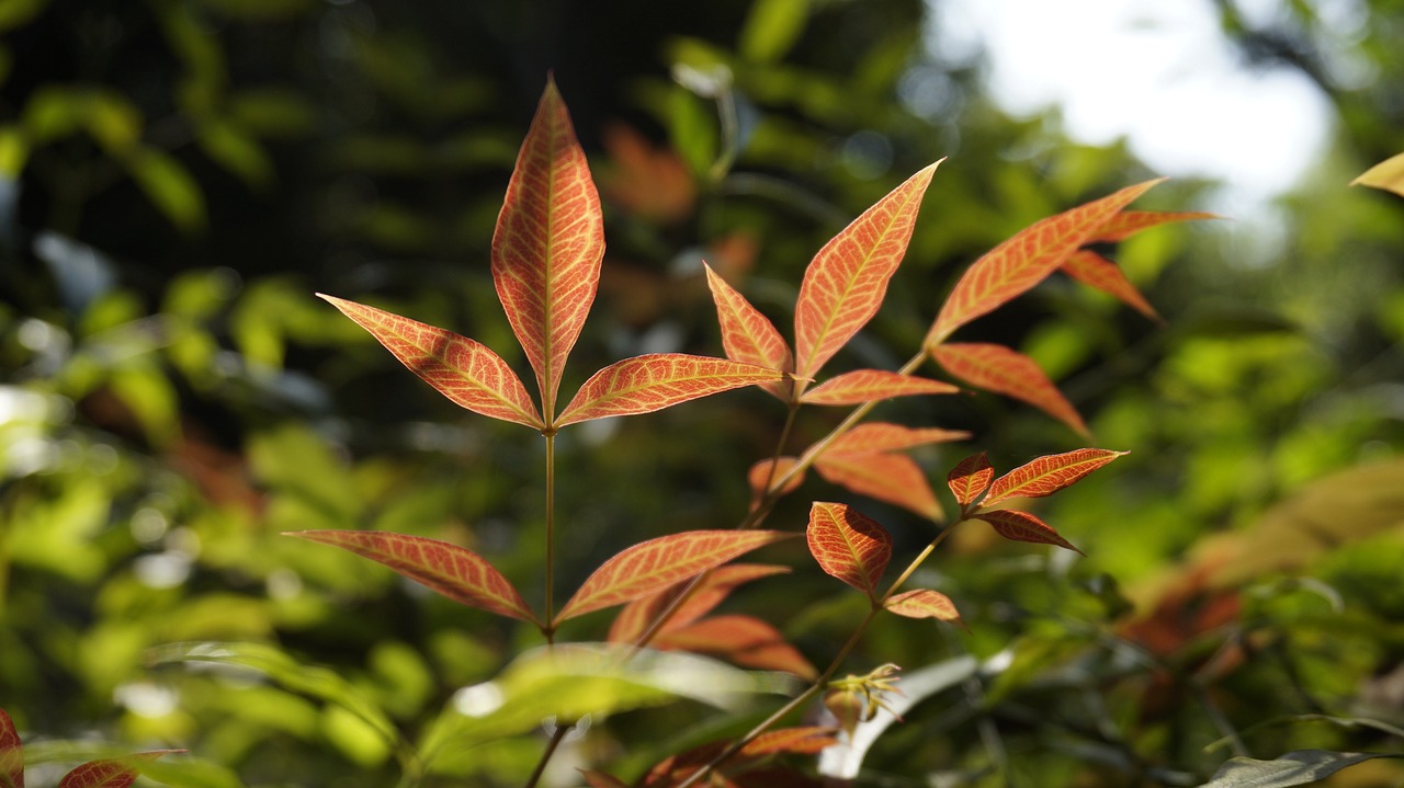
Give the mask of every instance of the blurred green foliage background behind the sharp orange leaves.
[[[1214, 6], [1247, 64], [1297, 69], [1332, 98], [1331, 154], [1275, 223], [1118, 250], [1167, 327], [1052, 282], [966, 330], [1039, 359], [1098, 443], [1132, 454], [1040, 512], [1090, 558], [962, 533], [918, 580], [972, 632], [890, 620], [855, 652], [859, 672], [983, 660], [873, 747], [893, 784], [1193, 785], [1226, 736], [1257, 757], [1398, 747], [1296, 716], [1404, 722], [1404, 534], [1389, 495], [1362, 495], [1404, 477], [1404, 203], [1345, 188], [1404, 147], [1404, 10], [1359, 4], [1370, 22], [1346, 43], [1373, 76], [1346, 80], [1317, 3], [1269, 22]], [[1053, 114], [1004, 115], [979, 59], [924, 46], [935, 20], [915, 0], [0, 3], [0, 705], [29, 738], [188, 747], [212, 777], [173, 778], [185, 784], [379, 787], [423, 768], [411, 743], [472, 719], [455, 709], [486, 702], [486, 681], [539, 644], [277, 534], [446, 538], [539, 595], [542, 449], [455, 409], [312, 293], [514, 348], [487, 247], [553, 69], [609, 238], [567, 377], [647, 351], [716, 353], [703, 257], [786, 325], [814, 251], [949, 156], [883, 313], [837, 359], [892, 369], [979, 254], [1150, 175], [1120, 146], [1064, 139]], [[1178, 182], [1153, 199], [1210, 195]], [[976, 433], [918, 454], [936, 480], [962, 453], [1009, 467], [1075, 440], [991, 397], [880, 416]], [[835, 419], [807, 414], [795, 444]], [[747, 391], [563, 435], [559, 582], [649, 536], [733, 524], [781, 423]], [[1299, 492], [1313, 482], [1338, 527], [1272, 531], [1278, 515], [1314, 522]], [[807, 501], [837, 495], [810, 481], [772, 523], [799, 527]], [[1348, 516], [1332, 509], [1352, 498]], [[899, 547], [928, 540], [859, 505]], [[1226, 578], [1226, 561], [1297, 537], [1307, 547]], [[820, 662], [861, 600], [797, 548], [775, 559], [796, 572], [729, 604]], [[564, 634], [600, 638], [604, 621]], [[212, 644], [239, 644], [237, 659], [168, 660]], [[512, 670], [524, 697], [543, 691]], [[630, 693], [637, 708], [569, 743], [626, 778], [767, 708], [719, 718]], [[444, 784], [521, 784], [545, 742], [522, 719], [459, 731]]]

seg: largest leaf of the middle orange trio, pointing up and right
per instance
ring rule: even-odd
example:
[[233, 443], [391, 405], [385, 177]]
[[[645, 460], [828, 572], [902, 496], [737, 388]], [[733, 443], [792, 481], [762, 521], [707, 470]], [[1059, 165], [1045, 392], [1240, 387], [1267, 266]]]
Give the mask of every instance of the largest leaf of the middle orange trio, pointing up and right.
[[907, 252], [917, 209], [936, 164], [878, 201], [809, 264], [795, 306], [797, 377], [813, 379], [878, 313], [887, 280]]

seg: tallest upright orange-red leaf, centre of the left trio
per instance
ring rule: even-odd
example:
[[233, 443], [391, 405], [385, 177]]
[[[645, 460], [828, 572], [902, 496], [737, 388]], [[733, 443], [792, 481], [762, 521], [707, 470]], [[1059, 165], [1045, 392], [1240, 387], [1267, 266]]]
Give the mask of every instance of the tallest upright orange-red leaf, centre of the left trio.
[[600, 287], [605, 254], [600, 195], [555, 81], [517, 156], [493, 231], [493, 282], [555, 412], [566, 356]]

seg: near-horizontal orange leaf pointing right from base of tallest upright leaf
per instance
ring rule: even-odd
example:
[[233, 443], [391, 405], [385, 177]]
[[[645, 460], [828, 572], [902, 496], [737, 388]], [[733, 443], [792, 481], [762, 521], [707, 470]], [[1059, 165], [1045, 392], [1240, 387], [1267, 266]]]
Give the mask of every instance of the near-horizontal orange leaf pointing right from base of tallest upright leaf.
[[615, 362], [580, 387], [555, 426], [605, 416], [651, 414], [678, 402], [743, 386], [774, 383], [772, 369], [685, 353], [653, 353]]

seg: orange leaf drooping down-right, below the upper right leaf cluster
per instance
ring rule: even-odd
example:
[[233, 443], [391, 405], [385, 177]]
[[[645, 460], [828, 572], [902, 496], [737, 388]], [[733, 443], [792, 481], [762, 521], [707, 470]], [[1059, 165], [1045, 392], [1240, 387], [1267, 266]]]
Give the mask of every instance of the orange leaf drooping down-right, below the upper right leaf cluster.
[[1039, 365], [1024, 353], [1004, 345], [951, 344], [934, 345], [931, 358], [970, 386], [1022, 400], [1080, 435], [1091, 435], [1073, 404], [1043, 374]]

